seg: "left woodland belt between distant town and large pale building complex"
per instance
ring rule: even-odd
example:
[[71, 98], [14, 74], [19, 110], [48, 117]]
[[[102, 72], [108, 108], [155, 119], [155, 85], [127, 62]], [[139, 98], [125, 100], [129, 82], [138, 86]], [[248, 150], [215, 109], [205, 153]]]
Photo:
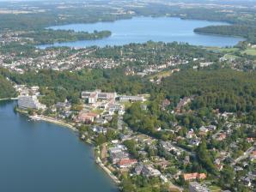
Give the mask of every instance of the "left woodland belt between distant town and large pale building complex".
[[23, 75], [2, 69], [0, 74], [17, 84], [40, 86], [41, 93], [45, 95], [43, 103], [46, 105], [53, 105], [66, 98], [76, 103], [82, 91], [95, 88], [118, 93], [143, 93], [142, 80], [137, 76], [120, 75], [123, 74], [122, 69], [83, 69], [77, 72], [42, 69], [38, 73], [29, 71]]

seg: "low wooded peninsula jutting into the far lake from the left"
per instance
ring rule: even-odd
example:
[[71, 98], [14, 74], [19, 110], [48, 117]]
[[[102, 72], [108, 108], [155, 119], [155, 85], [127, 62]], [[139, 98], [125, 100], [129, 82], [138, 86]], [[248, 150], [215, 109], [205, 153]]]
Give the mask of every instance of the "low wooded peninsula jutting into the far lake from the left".
[[33, 32], [22, 33], [20, 36], [34, 39], [35, 44], [53, 44], [76, 40], [103, 39], [111, 35], [110, 31], [75, 32], [73, 30], [42, 29]]

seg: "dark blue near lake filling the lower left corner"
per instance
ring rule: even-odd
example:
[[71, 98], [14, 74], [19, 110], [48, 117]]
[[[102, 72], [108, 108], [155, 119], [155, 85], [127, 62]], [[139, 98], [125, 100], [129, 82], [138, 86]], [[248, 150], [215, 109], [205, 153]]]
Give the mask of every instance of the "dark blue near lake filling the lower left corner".
[[73, 131], [28, 122], [14, 106], [15, 102], [0, 102], [0, 191], [118, 191], [94, 164], [92, 147]]

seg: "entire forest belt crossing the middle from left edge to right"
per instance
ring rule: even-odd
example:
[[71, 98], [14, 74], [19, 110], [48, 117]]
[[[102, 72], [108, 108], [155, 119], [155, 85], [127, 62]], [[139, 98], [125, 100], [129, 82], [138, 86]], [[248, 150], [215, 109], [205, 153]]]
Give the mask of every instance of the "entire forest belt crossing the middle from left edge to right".
[[[83, 90], [101, 88], [105, 91], [137, 94], [150, 93], [151, 99], [163, 95], [177, 105], [180, 98], [195, 95], [192, 109], [208, 107], [220, 111], [256, 110], [256, 75], [233, 69], [184, 70], [163, 79], [160, 85], [149, 83], [139, 76], [125, 76], [124, 69], [83, 69], [82, 71], [40, 70], [23, 75], [0, 71], [17, 84], [52, 87], [53, 100], [76, 95]], [[182, 87], [182, 88], [180, 88]], [[64, 93], [59, 92], [62, 90]], [[61, 93], [61, 94], [60, 94]], [[59, 95], [60, 94], [60, 95]], [[79, 96], [78, 96], [79, 97]]]

